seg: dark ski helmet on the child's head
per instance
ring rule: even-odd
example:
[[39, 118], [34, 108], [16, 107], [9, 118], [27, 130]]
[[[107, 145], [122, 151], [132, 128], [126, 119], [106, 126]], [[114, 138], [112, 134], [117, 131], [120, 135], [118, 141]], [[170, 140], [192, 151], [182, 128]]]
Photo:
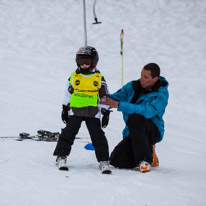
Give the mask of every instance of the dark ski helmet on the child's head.
[[79, 67], [79, 58], [80, 57], [90, 57], [92, 58], [93, 62], [91, 65], [91, 68], [94, 68], [97, 66], [97, 63], [99, 61], [99, 55], [97, 50], [94, 47], [91, 46], [84, 46], [79, 48], [79, 50], [76, 53], [76, 63], [77, 66]]

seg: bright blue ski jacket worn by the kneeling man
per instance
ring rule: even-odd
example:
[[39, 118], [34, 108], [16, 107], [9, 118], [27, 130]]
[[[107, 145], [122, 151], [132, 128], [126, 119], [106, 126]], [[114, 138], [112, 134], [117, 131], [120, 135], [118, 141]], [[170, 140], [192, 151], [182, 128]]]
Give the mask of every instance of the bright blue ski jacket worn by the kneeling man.
[[[140, 114], [146, 119], [150, 119], [157, 126], [160, 132], [160, 142], [164, 135], [163, 115], [168, 104], [168, 85], [169, 83], [167, 80], [160, 76], [152, 89], [144, 90], [140, 85], [139, 79], [137, 81], [127, 83], [119, 91], [109, 95], [109, 97], [119, 102], [117, 111], [122, 112], [125, 123], [127, 122], [130, 114]], [[137, 100], [133, 102], [135, 93], [141, 89], [142, 92], [139, 93]], [[122, 134], [123, 138], [130, 135], [127, 125], [125, 126]]]

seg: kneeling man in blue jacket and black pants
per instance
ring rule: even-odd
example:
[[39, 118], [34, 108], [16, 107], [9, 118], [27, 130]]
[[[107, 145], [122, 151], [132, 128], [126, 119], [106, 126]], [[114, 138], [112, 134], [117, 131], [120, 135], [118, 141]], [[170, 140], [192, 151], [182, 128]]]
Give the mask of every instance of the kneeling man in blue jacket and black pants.
[[119, 168], [151, 170], [153, 145], [164, 135], [163, 115], [168, 103], [168, 82], [155, 63], [145, 65], [141, 78], [103, 98], [101, 104], [123, 113], [123, 140], [114, 148], [110, 164]]

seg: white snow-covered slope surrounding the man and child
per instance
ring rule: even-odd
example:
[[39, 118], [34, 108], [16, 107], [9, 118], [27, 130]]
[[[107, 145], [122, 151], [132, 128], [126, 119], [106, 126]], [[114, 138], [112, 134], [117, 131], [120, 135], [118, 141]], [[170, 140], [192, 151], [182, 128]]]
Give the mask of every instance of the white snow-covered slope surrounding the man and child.
[[[206, 1], [97, 1], [102, 24], [87, 5], [88, 45], [113, 93], [121, 87], [120, 31], [124, 29], [124, 83], [156, 62], [170, 83], [160, 167], [150, 173], [112, 168], [102, 175], [85, 125], [58, 171], [56, 143], [0, 139], [1, 206], [206, 205]], [[65, 83], [84, 45], [82, 0], [0, 0], [0, 136], [39, 129], [60, 131]], [[122, 139], [121, 113], [105, 129], [110, 152]]]

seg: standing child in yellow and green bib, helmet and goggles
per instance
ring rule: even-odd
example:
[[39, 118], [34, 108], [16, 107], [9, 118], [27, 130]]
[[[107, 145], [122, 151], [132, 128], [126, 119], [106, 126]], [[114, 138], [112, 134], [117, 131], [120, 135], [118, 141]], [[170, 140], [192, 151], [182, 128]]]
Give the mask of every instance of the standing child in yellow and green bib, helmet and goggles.
[[102, 127], [108, 125], [110, 111], [98, 107], [99, 99], [107, 96], [108, 90], [104, 77], [96, 68], [98, 60], [98, 53], [91, 46], [81, 47], [76, 53], [78, 68], [71, 73], [64, 93], [62, 120], [66, 127], [62, 130], [53, 154], [57, 156], [60, 170], [68, 170], [66, 158], [70, 154], [82, 121], [85, 121], [99, 168], [102, 173], [111, 173], [108, 142], [100, 123], [102, 113]]

